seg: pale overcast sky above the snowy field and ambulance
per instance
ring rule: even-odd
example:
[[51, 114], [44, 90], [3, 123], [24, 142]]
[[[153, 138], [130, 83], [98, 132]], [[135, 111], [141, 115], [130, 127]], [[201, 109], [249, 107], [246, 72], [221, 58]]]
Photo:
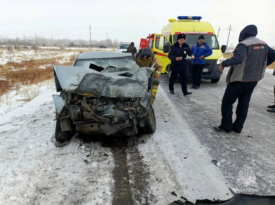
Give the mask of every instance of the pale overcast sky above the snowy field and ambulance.
[[[0, 35], [133, 41], [149, 33], [161, 33], [168, 19], [178, 16], [201, 16], [208, 21], [219, 43], [226, 45], [228, 28], [232, 31], [229, 43], [238, 43], [239, 32], [246, 25], [258, 27], [258, 38], [275, 46], [275, 0], [195, 0], [195, 1], [111, 1], [111, 0], [0, 0]], [[76, 30], [77, 29], [77, 30]]]

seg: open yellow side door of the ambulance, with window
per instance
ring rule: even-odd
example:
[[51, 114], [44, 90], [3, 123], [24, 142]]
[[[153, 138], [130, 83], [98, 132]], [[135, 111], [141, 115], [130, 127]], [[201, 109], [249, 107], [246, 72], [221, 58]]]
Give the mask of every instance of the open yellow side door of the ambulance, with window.
[[162, 34], [155, 34], [154, 36], [154, 46], [153, 46], [153, 54], [157, 56], [162, 62], [163, 68], [161, 73], [167, 73], [168, 66], [170, 64], [170, 59], [168, 59], [168, 53], [164, 53], [164, 46], [168, 46], [169, 49], [171, 47], [171, 43], [168, 41], [166, 36]]

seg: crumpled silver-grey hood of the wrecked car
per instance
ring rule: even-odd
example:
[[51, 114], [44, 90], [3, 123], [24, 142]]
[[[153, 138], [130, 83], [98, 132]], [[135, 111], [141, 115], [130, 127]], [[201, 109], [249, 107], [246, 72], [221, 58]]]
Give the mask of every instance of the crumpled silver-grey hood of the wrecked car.
[[[93, 93], [111, 98], [139, 98], [148, 95], [148, 79], [154, 68], [143, 67], [115, 73], [102, 73], [78, 66], [53, 66], [56, 85], [68, 93]], [[132, 77], [119, 76], [129, 72]]]

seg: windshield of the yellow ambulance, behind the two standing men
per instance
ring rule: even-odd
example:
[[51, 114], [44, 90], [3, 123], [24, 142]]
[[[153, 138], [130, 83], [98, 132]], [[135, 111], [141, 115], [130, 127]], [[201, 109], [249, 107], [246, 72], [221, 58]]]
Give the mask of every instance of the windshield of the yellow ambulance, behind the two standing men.
[[[174, 43], [176, 43], [177, 36], [178, 35], [173, 36]], [[184, 42], [187, 43], [190, 48], [192, 48], [193, 45], [198, 42], [199, 36], [200, 34], [186, 34], [186, 39]], [[211, 49], [219, 49], [219, 44], [218, 44], [216, 35], [205, 34], [204, 42], [207, 43]]]

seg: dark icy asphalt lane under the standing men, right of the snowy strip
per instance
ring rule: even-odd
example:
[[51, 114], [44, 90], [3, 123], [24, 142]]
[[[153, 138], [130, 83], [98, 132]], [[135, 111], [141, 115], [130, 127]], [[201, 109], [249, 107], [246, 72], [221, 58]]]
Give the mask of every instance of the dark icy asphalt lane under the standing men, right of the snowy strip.
[[[169, 93], [168, 75], [161, 75], [160, 85], [209, 156], [218, 160], [218, 171], [229, 187], [239, 193], [274, 195], [275, 113], [266, 110], [274, 104], [275, 77], [265, 73], [254, 89], [241, 134], [227, 134], [213, 129], [221, 122], [227, 72], [226, 68], [218, 83], [202, 80], [199, 90], [190, 89], [192, 81], [188, 80], [188, 91], [192, 95], [187, 97], [182, 95], [180, 80], [175, 83], [175, 95]], [[233, 105], [233, 121], [236, 106], [237, 101]]]

